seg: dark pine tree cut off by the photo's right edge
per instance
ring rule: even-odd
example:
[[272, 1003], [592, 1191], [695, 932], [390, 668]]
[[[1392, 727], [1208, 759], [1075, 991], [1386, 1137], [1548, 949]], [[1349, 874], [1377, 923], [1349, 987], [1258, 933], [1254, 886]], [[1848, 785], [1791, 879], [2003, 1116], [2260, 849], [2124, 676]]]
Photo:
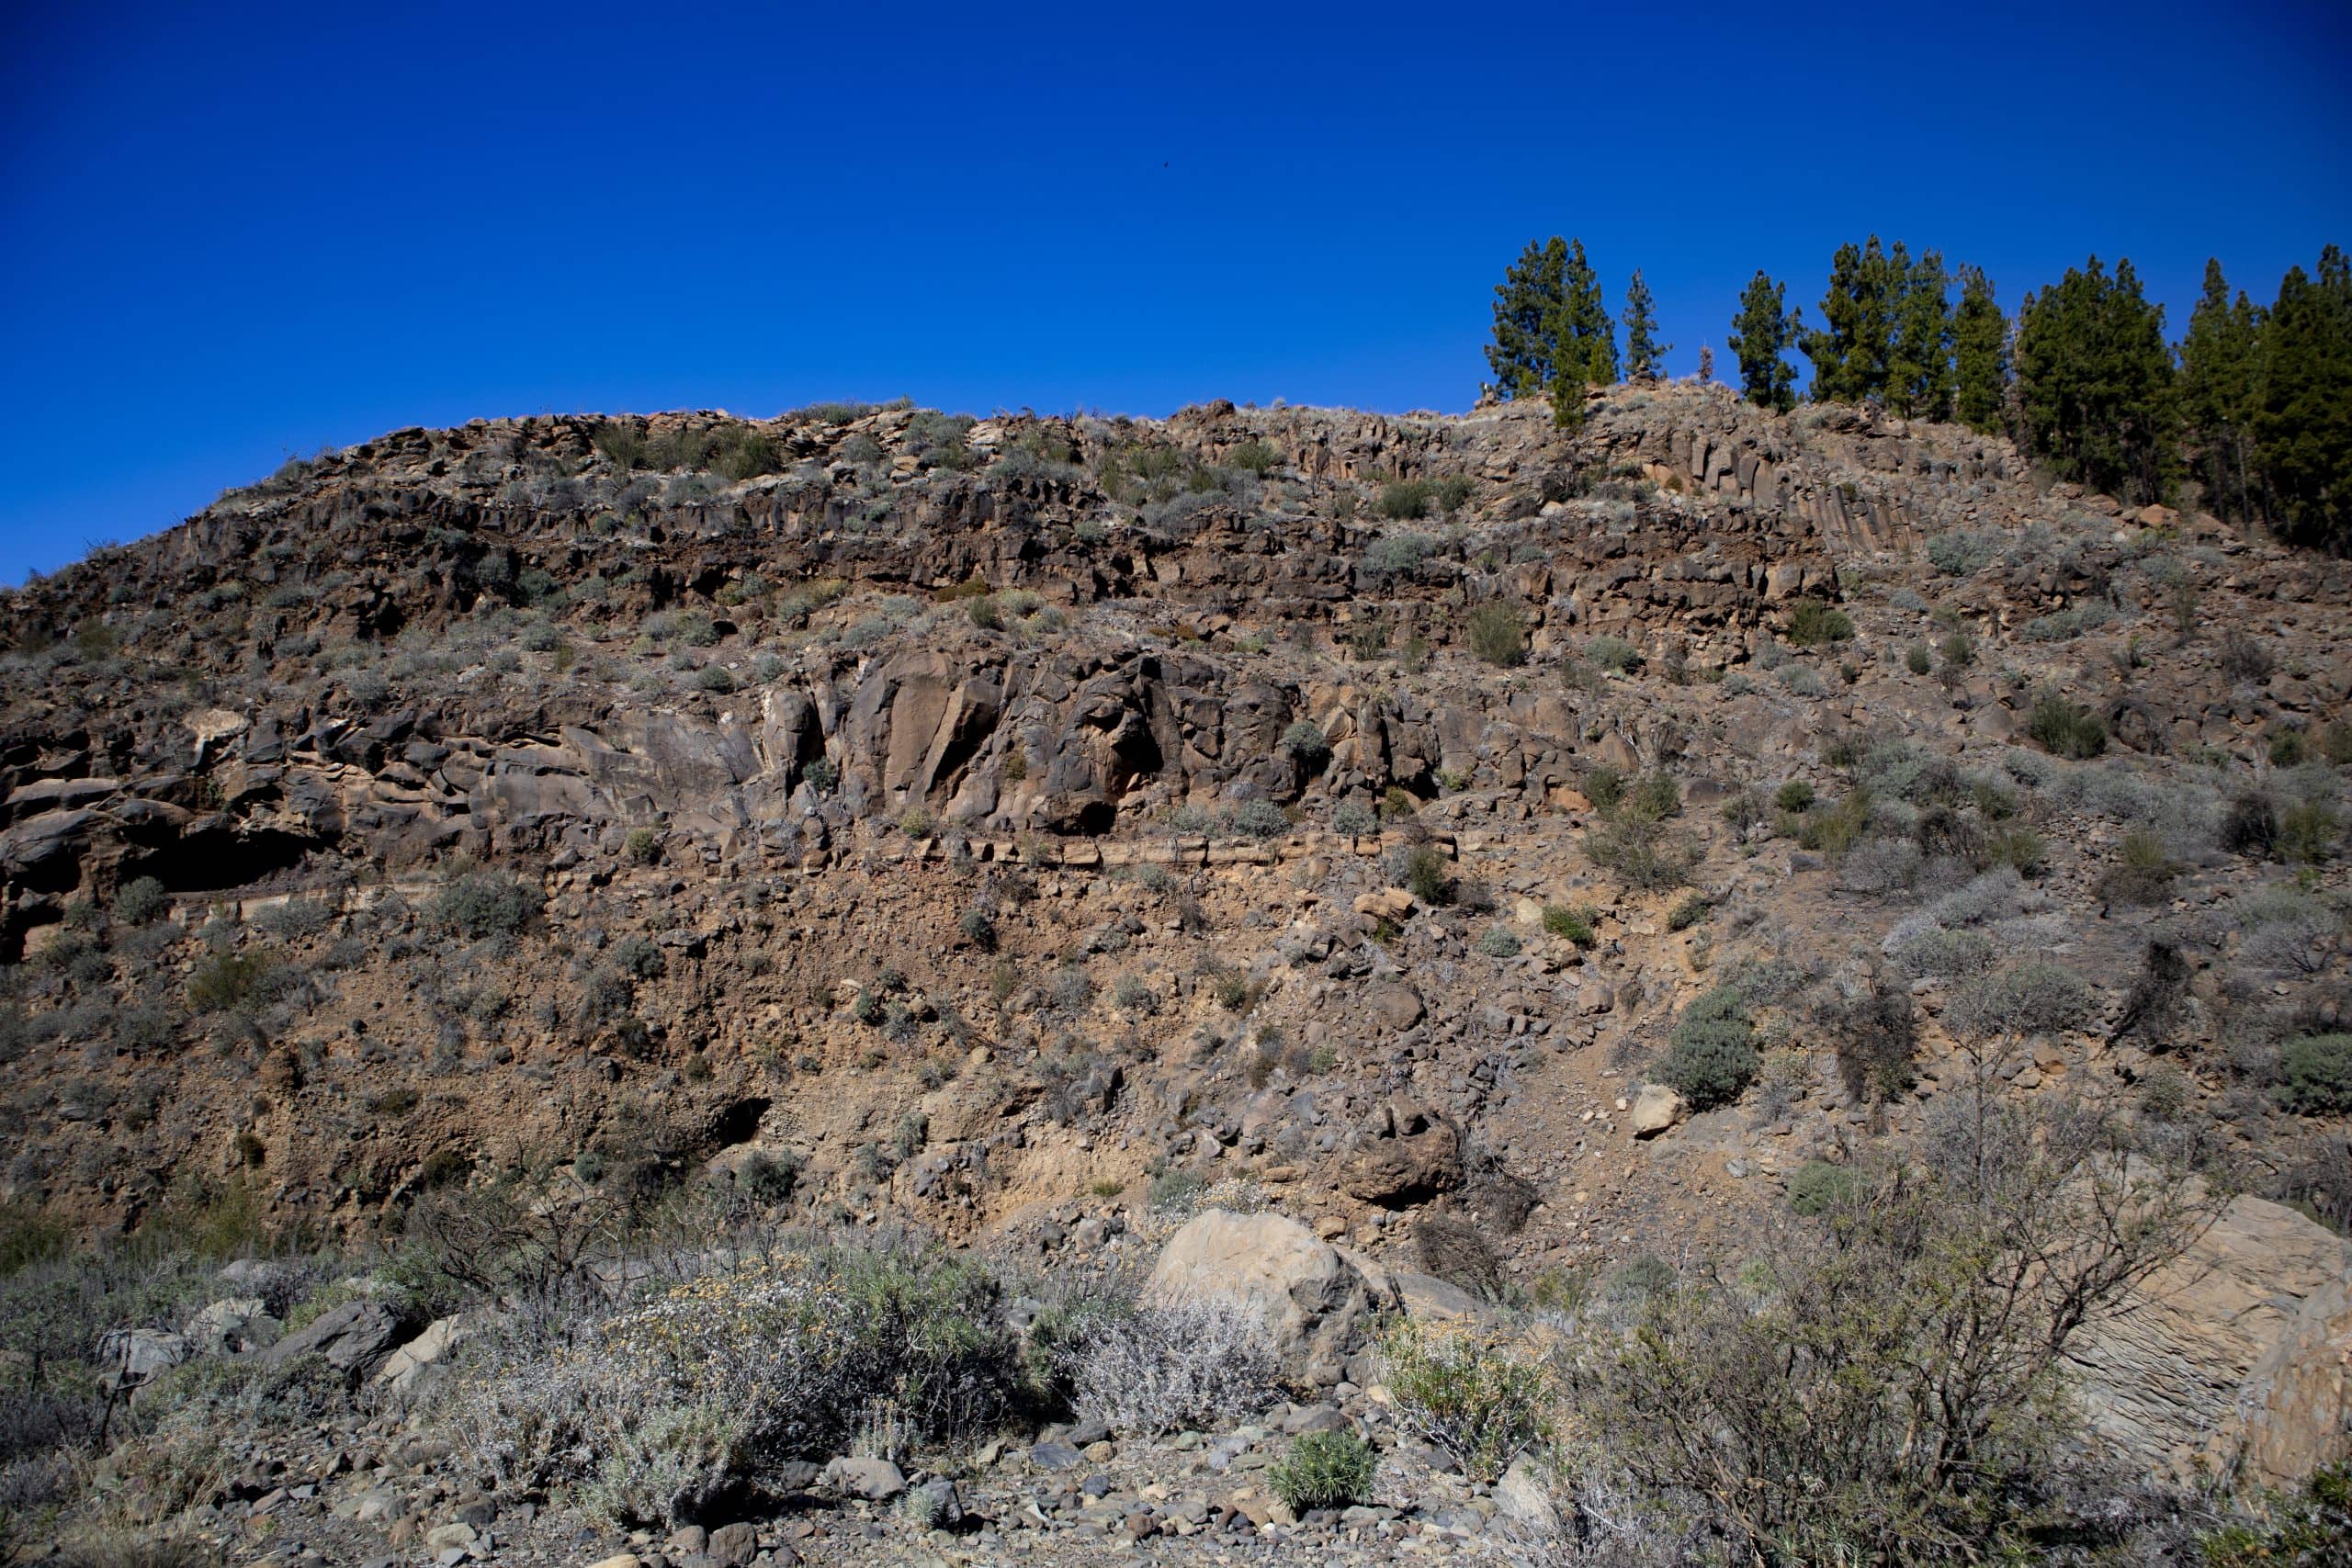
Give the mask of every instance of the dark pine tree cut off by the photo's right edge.
[[2288, 538], [2352, 545], [2352, 263], [2319, 252], [2319, 277], [2291, 268], [2263, 343], [2253, 437], [2272, 512]]

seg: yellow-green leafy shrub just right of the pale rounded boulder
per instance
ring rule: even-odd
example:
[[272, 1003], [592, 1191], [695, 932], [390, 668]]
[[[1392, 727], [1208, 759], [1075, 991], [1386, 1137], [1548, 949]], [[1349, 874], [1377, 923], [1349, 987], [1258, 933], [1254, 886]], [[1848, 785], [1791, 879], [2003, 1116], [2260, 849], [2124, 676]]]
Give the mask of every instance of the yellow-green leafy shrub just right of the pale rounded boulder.
[[1494, 1481], [1552, 1436], [1550, 1378], [1468, 1324], [1404, 1319], [1381, 1335], [1388, 1392], [1472, 1481]]

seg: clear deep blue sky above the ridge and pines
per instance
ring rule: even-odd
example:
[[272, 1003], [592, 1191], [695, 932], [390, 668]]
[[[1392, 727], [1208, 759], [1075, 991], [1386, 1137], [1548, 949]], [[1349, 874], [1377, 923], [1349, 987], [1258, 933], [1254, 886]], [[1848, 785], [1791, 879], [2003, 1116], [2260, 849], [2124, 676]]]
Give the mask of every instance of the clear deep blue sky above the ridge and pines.
[[1583, 235], [1672, 369], [1839, 240], [2013, 306], [2352, 244], [2336, 5], [59, 5], [0, 24], [0, 578], [475, 414], [1461, 409]]

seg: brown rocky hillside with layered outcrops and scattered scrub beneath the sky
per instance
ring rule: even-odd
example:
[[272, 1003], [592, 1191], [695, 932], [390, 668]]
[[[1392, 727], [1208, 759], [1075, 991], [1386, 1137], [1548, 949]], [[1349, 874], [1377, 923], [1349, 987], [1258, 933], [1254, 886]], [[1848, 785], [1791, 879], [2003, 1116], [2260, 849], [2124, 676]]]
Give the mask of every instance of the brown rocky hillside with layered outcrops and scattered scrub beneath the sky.
[[1651, 386], [397, 430], [5, 614], [12, 1213], [1240, 1180], [1524, 1302], [1990, 1077], [2251, 1194], [2103, 1429], [2343, 1439], [2347, 562]]

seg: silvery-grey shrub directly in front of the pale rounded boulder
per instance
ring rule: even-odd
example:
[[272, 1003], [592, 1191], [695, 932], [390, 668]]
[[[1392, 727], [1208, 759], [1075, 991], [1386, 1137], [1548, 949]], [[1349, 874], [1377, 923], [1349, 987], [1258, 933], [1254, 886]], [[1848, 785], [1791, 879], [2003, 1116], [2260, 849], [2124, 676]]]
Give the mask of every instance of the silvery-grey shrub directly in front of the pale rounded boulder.
[[1225, 1300], [1145, 1307], [1105, 1324], [1075, 1366], [1077, 1410], [1112, 1432], [1223, 1427], [1279, 1387], [1265, 1319]]

